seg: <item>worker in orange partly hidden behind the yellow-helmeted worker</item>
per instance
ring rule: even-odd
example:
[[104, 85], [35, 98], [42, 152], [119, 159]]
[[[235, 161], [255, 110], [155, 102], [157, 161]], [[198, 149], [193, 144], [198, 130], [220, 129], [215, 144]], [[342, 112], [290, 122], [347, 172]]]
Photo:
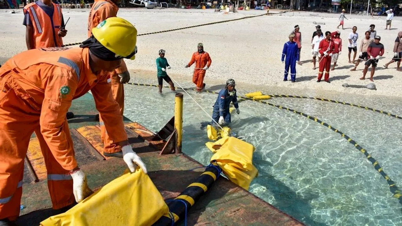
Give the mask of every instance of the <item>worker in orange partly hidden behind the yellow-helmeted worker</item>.
[[[120, 0], [95, 0], [88, 16], [88, 37], [92, 35], [92, 29], [101, 21], [106, 20], [109, 17], [117, 15]], [[121, 65], [117, 67], [113, 72], [110, 72], [111, 84], [112, 84], [112, 94], [113, 99], [120, 106], [120, 115], [123, 116], [124, 112], [124, 86], [123, 83], [127, 83], [130, 80], [130, 73], [127, 70], [127, 66], [124, 61], [121, 61]], [[113, 140], [110, 139], [109, 135], [106, 133], [105, 123], [103, 119], [99, 117], [100, 122], [100, 138], [103, 141], [105, 147], [110, 146]], [[115, 152], [120, 152], [119, 149], [105, 149], [105, 156], [113, 156]]]

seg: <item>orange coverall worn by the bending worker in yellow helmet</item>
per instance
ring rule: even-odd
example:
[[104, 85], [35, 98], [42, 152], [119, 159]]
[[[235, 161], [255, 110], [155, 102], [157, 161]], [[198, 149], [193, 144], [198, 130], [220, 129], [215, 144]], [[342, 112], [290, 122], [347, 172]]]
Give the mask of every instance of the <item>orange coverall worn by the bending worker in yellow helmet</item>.
[[123, 117], [113, 100], [107, 73], [96, 76], [89, 49], [31, 49], [0, 68], [0, 219], [20, 212], [24, 158], [35, 131], [47, 169], [53, 208], [75, 201], [72, 178], [77, 166], [66, 113], [73, 99], [91, 90], [96, 109], [115, 144], [127, 140]]

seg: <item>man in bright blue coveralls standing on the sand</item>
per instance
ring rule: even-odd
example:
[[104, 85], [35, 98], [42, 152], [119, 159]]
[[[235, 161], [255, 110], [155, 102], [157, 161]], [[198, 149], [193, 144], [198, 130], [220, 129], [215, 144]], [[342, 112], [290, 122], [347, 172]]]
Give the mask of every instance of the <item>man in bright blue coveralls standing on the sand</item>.
[[293, 41], [294, 37], [295, 37], [294, 34], [290, 34], [289, 41], [285, 43], [285, 45], [283, 45], [282, 63], [285, 63], [285, 78], [283, 78], [283, 81], [287, 81], [289, 66], [290, 66], [290, 78], [292, 82], [296, 81], [296, 62], [299, 61], [300, 53], [299, 48], [297, 47], [297, 43]]

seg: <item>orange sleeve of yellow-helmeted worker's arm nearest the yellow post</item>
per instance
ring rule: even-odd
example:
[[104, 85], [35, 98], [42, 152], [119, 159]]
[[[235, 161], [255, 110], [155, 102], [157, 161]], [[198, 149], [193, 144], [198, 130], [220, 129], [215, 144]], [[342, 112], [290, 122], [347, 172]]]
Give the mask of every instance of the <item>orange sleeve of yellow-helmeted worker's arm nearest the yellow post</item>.
[[99, 81], [91, 92], [110, 139], [114, 143], [128, 140], [119, 104], [113, 99], [111, 84], [107, 82], [107, 78]]

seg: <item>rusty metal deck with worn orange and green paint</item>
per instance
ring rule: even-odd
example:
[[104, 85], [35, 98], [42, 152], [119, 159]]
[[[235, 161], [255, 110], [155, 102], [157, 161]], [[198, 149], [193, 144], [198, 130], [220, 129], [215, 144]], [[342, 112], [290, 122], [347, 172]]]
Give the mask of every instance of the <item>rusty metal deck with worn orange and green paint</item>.
[[[126, 165], [122, 159], [103, 156], [100, 129], [98, 123], [94, 121], [94, 115], [97, 112], [90, 94], [75, 100], [70, 111], [79, 116], [69, 120], [78, 164], [87, 175], [88, 185], [92, 189], [97, 189], [121, 175]], [[201, 164], [185, 154], [160, 156], [158, 153], [164, 143], [152, 141], [152, 136], [144, 132], [148, 130], [142, 125], [128, 119], [125, 121], [130, 144], [145, 162], [150, 178], [165, 199], [176, 197], [201, 174], [202, 168], [189, 171]], [[39, 222], [47, 217], [59, 214], [60, 210], [51, 209], [46, 167], [39, 143], [34, 136], [30, 142], [25, 163], [21, 201], [21, 205], [25, 208], [21, 210], [18, 224], [39, 225]], [[223, 177], [220, 177], [191, 208], [187, 224], [303, 225]]]

